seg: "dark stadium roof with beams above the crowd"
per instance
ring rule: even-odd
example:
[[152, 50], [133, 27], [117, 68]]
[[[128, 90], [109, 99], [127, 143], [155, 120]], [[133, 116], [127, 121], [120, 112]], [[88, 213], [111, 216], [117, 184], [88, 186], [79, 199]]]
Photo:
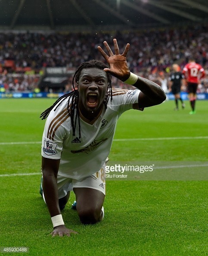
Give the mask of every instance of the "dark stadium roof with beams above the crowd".
[[0, 0], [0, 30], [129, 30], [207, 17], [208, 0]]

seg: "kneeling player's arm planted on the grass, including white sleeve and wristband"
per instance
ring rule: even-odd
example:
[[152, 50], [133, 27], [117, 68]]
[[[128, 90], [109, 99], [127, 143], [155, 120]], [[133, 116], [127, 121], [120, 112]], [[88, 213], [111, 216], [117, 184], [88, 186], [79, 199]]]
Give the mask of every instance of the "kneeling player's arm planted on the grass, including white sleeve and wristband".
[[[42, 138], [42, 174], [43, 174], [43, 198], [50, 212], [53, 222], [52, 236], [70, 236], [77, 233], [65, 227], [59, 208], [59, 196], [57, 186], [57, 175], [62, 155], [63, 140], [67, 136], [68, 127], [71, 127], [67, 102], [61, 104], [56, 112], [50, 112], [45, 123]], [[63, 119], [65, 122], [63, 122]], [[67, 127], [67, 129], [66, 129]], [[70, 131], [68, 131], [69, 133]]]

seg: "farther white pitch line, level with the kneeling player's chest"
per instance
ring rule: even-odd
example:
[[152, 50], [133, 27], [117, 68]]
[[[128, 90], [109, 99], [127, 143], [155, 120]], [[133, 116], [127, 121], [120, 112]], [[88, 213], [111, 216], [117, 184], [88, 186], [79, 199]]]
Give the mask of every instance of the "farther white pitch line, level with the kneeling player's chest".
[[[139, 141], [139, 140], [200, 140], [208, 139], [208, 136], [197, 137], [161, 137], [161, 138], [129, 138], [129, 139], [114, 139], [113, 141]], [[25, 141], [25, 142], [0, 142], [0, 145], [19, 145], [19, 144], [41, 144], [41, 141]]]

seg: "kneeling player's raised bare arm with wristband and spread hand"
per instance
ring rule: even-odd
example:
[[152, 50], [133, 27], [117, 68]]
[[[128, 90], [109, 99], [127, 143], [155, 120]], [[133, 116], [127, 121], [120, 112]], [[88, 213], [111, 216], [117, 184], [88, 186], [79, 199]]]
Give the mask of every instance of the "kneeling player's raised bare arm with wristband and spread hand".
[[153, 81], [142, 78], [130, 72], [126, 60], [130, 44], [127, 44], [124, 52], [122, 54], [119, 54], [116, 39], [113, 40], [113, 43], [115, 54], [112, 53], [112, 50], [106, 41], [104, 42], [104, 45], [109, 55], [106, 54], [100, 46], [98, 47], [99, 52], [110, 65], [110, 68], [106, 68], [104, 69], [104, 71], [111, 73], [116, 78], [127, 84], [131, 84], [137, 87], [141, 91], [139, 94], [139, 105], [135, 103], [133, 104], [133, 108], [143, 109], [145, 107], [154, 106], [162, 103], [166, 99], [166, 95], [158, 84], [155, 84]]

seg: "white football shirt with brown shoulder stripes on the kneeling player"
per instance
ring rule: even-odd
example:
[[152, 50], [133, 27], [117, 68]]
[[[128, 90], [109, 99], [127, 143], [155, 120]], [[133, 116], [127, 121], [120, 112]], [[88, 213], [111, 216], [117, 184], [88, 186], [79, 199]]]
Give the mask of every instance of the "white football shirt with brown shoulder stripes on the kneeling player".
[[68, 98], [47, 117], [43, 132], [42, 156], [60, 159], [59, 175], [81, 179], [98, 172], [110, 153], [115, 128], [121, 114], [132, 109], [138, 103], [140, 90], [112, 90], [112, 101], [109, 98], [107, 109], [93, 125], [80, 118], [81, 138], [79, 138], [78, 120], [75, 136], [68, 114]]

